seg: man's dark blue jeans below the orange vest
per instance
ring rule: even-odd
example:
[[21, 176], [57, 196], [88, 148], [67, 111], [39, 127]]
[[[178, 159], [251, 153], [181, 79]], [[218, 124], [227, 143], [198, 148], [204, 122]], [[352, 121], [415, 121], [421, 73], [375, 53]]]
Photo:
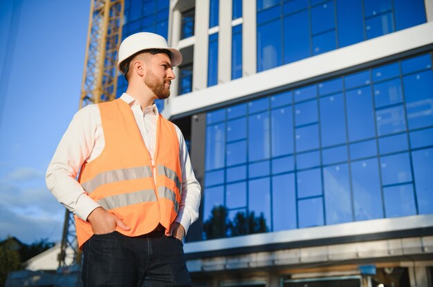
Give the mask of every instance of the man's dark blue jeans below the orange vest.
[[182, 241], [151, 232], [127, 237], [93, 235], [83, 246], [84, 287], [192, 286]]

